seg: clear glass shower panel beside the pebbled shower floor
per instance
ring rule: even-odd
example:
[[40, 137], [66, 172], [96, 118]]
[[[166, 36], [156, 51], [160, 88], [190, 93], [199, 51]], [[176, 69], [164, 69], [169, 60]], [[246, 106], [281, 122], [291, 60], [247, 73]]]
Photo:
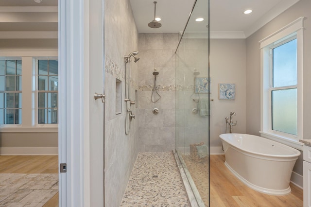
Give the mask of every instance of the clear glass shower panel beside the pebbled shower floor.
[[[207, 0], [196, 0], [176, 50], [175, 149], [199, 206], [209, 206], [209, 31]], [[203, 17], [203, 21], [196, 21]], [[189, 173], [188, 173], [189, 172]], [[196, 195], [198, 193], [199, 195]]]

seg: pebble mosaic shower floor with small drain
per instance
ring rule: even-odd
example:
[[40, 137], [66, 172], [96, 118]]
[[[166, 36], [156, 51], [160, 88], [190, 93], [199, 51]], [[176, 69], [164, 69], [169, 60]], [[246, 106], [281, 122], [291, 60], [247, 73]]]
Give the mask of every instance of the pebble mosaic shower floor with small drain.
[[173, 152], [138, 154], [121, 207], [190, 207]]

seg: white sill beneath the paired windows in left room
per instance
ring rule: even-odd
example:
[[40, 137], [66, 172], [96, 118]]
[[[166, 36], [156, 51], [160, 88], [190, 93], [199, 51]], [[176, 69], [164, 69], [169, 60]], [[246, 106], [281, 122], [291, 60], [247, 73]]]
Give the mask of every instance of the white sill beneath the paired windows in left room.
[[33, 126], [23, 127], [21, 125], [0, 125], [0, 132], [58, 132], [58, 126]]

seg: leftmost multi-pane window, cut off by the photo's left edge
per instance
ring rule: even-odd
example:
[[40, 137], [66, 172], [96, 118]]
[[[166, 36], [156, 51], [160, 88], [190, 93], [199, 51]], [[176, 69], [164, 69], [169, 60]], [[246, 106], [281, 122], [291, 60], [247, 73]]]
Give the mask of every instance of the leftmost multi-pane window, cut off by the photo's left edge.
[[21, 124], [21, 60], [0, 60], [0, 124]]

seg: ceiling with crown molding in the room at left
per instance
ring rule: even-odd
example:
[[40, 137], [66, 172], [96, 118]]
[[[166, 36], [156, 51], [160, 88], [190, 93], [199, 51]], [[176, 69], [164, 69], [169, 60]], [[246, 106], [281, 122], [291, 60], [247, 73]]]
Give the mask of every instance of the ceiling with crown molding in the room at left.
[[0, 39], [57, 39], [57, 3], [0, 0]]

